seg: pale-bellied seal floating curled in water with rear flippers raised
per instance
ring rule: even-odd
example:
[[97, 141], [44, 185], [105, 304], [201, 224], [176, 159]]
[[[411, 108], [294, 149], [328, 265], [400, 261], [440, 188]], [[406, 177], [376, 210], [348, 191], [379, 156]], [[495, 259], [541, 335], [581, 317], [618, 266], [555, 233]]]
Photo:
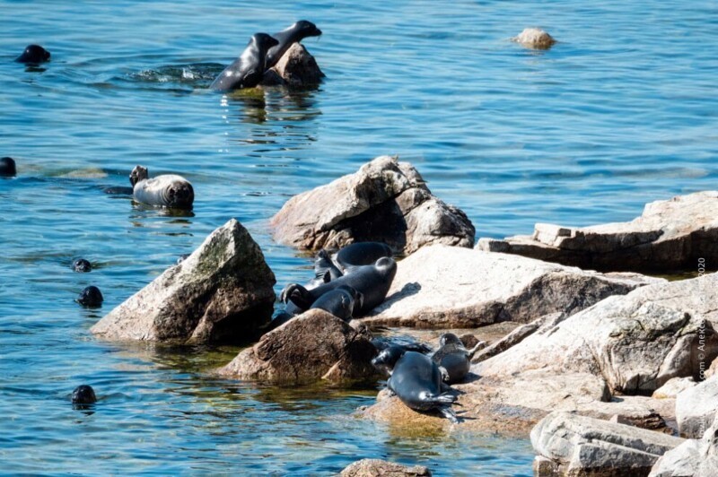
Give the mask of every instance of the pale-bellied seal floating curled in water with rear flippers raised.
[[175, 174], [162, 174], [149, 178], [147, 168], [136, 166], [129, 175], [133, 186], [133, 197], [143, 204], [191, 209], [195, 201], [195, 190], [186, 178]]

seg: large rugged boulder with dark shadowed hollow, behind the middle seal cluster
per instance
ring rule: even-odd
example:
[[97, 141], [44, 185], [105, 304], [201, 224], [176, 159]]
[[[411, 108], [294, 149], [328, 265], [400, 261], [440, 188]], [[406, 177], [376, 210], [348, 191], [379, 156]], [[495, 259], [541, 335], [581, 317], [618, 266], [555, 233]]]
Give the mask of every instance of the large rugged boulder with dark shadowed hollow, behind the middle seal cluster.
[[464, 212], [431, 195], [411, 164], [389, 156], [293, 196], [271, 224], [276, 240], [308, 250], [363, 241], [404, 253], [435, 243], [473, 247], [475, 233]]

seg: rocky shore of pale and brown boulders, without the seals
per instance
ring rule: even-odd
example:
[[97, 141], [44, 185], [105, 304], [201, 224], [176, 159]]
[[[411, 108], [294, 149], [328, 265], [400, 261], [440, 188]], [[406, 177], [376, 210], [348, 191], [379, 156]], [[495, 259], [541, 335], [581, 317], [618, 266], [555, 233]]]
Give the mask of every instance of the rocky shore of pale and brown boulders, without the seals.
[[[626, 224], [537, 225], [531, 238], [482, 239], [472, 248], [466, 214], [431, 195], [413, 166], [381, 156], [293, 197], [271, 222], [278, 241], [304, 250], [373, 240], [406, 254], [368, 316], [347, 324], [310, 309], [265, 333], [276, 279], [232, 220], [92, 333], [251, 343], [216, 372], [337, 386], [380, 377], [370, 362], [380, 327], [468, 328], [469, 339], [480, 327], [511, 324], [452, 385], [459, 424], [409, 409], [386, 390], [356, 417], [407, 433], [530, 436], [538, 475], [709, 475], [718, 468], [718, 273], [704, 269], [718, 258], [716, 207], [718, 193], [696, 193], [649, 204]], [[699, 263], [700, 276], [681, 281], [640, 274]], [[343, 474], [429, 473], [371, 461]]]

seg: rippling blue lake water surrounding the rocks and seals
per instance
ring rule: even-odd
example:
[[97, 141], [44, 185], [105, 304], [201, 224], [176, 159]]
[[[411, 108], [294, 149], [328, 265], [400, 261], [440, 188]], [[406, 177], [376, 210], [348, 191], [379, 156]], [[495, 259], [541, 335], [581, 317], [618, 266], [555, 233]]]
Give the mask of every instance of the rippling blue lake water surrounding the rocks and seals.
[[[477, 237], [536, 221], [625, 221], [715, 189], [718, 4], [0, 1], [0, 467], [6, 473], [330, 474], [363, 457], [433, 472], [530, 475], [528, 440], [412, 436], [351, 413], [375, 390], [277, 389], [206, 370], [234, 348], [121, 346], [109, 309], [240, 220], [277, 276], [285, 200], [381, 154], [416, 165]], [[206, 90], [256, 31], [307, 19], [320, 88]], [[510, 38], [540, 26], [559, 43]], [[13, 58], [31, 43], [41, 68]], [[105, 195], [136, 164], [195, 186], [190, 215]], [[83, 256], [92, 273], [73, 273]], [[100, 287], [99, 310], [76, 294]], [[82, 383], [101, 396], [75, 411]]]

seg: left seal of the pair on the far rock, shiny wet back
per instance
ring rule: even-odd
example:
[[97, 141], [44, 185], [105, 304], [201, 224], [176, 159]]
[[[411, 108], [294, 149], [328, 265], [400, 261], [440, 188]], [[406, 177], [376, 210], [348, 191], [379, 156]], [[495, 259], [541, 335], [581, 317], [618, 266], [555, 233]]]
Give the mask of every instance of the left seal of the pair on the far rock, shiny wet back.
[[267, 50], [276, 47], [279, 42], [267, 33], [252, 35], [247, 48], [244, 48], [239, 58], [209, 85], [210, 90], [232, 91], [240, 88], [254, 88], [262, 81], [267, 69]]

